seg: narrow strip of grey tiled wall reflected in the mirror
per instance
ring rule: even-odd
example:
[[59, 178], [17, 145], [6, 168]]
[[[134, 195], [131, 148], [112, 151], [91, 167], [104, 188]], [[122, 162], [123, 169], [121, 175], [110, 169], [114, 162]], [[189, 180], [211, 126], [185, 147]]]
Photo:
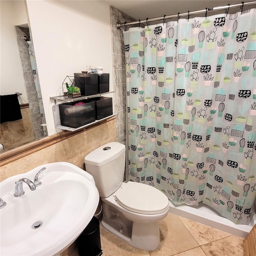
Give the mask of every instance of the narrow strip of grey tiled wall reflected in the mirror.
[[29, 36], [29, 30], [28, 28], [22, 28], [19, 26], [15, 26], [15, 30], [18, 50], [20, 53], [20, 62], [22, 66], [25, 89], [30, 107], [34, 137], [35, 140], [39, 140], [40, 138], [44, 137], [44, 130], [41, 126], [42, 117], [38, 103], [38, 95], [36, 93], [34, 75], [31, 68], [30, 56], [28, 53], [28, 45], [23, 39], [23, 36]]

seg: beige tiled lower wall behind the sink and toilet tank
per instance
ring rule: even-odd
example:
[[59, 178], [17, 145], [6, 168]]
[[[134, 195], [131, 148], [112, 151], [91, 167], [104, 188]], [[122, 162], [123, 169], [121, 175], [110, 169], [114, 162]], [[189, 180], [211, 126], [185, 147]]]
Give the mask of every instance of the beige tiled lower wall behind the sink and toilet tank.
[[52, 162], [69, 162], [84, 169], [84, 157], [87, 154], [108, 142], [116, 141], [115, 127], [116, 122], [113, 118], [72, 137], [61, 141], [57, 139], [51, 146], [1, 166], [0, 181]]

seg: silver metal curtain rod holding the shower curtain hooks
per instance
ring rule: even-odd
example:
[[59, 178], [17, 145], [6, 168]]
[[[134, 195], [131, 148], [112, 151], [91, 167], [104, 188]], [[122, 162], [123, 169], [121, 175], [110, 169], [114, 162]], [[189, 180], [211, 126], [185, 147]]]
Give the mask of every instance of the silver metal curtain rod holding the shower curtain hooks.
[[158, 17], [158, 18], [152, 18], [152, 19], [147, 18], [146, 20], [141, 20], [141, 21], [133, 21], [133, 22], [125, 22], [125, 23], [116, 22], [116, 27], [119, 29], [120, 27], [128, 26], [128, 25], [140, 24], [140, 23], [163, 20], [163, 19], [167, 20], [170, 18], [178, 18], [178, 17], [188, 16], [188, 15], [202, 14], [202, 13], [214, 12], [214, 11], [218, 11], [218, 10], [225, 10], [225, 9], [229, 9], [229, 8], [244, 7], [244, 6], [254, 5], [254, 4], [256, 4], [256, 1], [247, 2], [247, 3], [242, 2], [241, 4], [218, 6], [218, 7], [213, 7], [213, 8], [206, 8], [204, 10], [194, 11], [194, 12], [188, 11], [188, 12], [184, 12], [184, 13], [179, 13], [179, 14], [174, 14], [174, 15], [164, 16], [164, 17]]

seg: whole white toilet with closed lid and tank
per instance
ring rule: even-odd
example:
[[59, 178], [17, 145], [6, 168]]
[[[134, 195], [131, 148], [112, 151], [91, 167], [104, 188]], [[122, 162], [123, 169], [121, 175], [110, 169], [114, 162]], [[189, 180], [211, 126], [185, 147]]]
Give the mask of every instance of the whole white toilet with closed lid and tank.
[[110, 142], [84, 158], [102, 199], [102, 226], [142, 250], [160, 245], [158, 221], [167, 216], [169, 200], [160, 190], [138, 182], [122, 182], [125, 146]]

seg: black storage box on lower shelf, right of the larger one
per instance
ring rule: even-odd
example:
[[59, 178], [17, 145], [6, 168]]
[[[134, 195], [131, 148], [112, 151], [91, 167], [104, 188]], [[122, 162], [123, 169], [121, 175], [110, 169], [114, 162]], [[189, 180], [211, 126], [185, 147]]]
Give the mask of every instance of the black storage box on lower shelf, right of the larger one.
[[91, 100], [94, 100], [94, 102], [95, 102], [96, 120], [100, 120], [102, 118], [111, 116], [113, 114], [112, 98], [97, 97], [97, 98], [92, 98]]

